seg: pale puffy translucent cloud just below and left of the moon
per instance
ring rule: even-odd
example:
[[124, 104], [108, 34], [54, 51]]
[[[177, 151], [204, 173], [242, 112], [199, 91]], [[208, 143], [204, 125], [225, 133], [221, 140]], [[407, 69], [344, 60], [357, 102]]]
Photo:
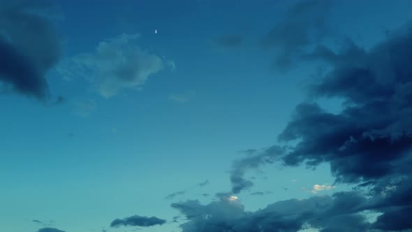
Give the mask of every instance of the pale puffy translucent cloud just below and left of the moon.
[[98, 43], [94, 52], [64, 60], [58, 71], [70, 80], [86, 78], [94, 83], [101, 96], [109, 98], [123, 89], [141, 89], [149, 76], [175, 63], [142, 50], [138, 34], [122, 34]]

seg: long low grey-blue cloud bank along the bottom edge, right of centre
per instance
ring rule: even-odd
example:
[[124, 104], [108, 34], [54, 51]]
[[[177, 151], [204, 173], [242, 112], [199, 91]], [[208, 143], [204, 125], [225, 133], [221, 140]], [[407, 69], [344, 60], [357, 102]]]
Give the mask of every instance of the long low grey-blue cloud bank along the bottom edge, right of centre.
[[[256, 212], [244, 211], [240, 201], [223, 199], [208, 205], [199, 201], [172, 204], [186, 216], [183, 232], [299, 231], [311, 226], [321, 231], [366, 231], [371, 225], [358, 212], [367, 198], [357, 192], [279, 201]], [[340, 229], [340, 230], [339, 230]]]

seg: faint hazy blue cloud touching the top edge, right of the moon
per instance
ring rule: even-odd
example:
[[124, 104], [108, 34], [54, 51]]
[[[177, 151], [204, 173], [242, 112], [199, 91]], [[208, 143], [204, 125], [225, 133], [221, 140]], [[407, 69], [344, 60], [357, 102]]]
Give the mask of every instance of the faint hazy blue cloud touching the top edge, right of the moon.
[[325, 20], [329, 8], [330, 1], [300, 1], [263, 38], [263, 46], [273, 48], [277, 54], [274, 66], [279, 71], [290, 68], [305, 54], [308, 45], [322, 41], [329, 34]]

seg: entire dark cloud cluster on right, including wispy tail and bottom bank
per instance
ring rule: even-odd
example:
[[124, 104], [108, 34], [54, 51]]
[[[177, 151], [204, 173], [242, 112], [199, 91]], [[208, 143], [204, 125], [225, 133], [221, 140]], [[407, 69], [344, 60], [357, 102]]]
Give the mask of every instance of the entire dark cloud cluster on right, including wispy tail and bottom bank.
[[[319, 2], [300, 4], [311, 7]], [[308, 33], [316, 33], [313, 28], [297, 30], [292, 31], [297, 34], [285, 33], [293, 38], [300, 34], [302, 40], [290, 38], [287, 44], [274, 34], [267, 43], [286, 48], [312, 44], [305, 38]], [[240, 203], [225, 198], [209, 205], [178, 203], [172, 207], [188, 219], [182, 224], [183, 231], [299, 231], [306, 227], [323, 232], [411, 231], [411, 25], [369, 50], [347, 40], [338, 50], [318, 45], [311, 52], [286, 53], [286, 57], [297, 57], [298, 61], [321, 61], [328, 68], [309, 87], [312, 101], [295, 108], [279, 135], [279, 142], [287, 146], [251, 151], [246, 158], [235, 161], [230, 173], [232, 192], [253, 185], [245, 178], [247, 171], [274, 161], [309, 167], [328, 163], [335, 182], [357, 184], [355, 189], [359, 191], [279, 201], [256, 212], [244, 212]], [[341, 99], [344, 104], [338, 113], [330, 113], [316, 102], [322, 98]], [[327, 189], [332, 186], [315, 185], [313, 190]], [[380, 215], [376, 222], [366, 219], [368, 212]]]

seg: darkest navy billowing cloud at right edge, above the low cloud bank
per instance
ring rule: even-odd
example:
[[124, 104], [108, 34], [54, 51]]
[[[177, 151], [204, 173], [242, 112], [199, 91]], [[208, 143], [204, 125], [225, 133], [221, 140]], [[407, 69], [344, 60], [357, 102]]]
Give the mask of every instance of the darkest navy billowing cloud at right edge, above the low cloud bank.
[[411, 48], [407, 29], [348, 61], [332, 61], [332, 70], [311, 94], [344, 99], [344, 109], [332, 114], [316, 103], [297, 106], [279, 140], [300, 142], [284, 162], [330, 162], [338, 182], [377, 180], [404, 170], [405, 162], [397, 161], [408, 158], [412, 148]]

